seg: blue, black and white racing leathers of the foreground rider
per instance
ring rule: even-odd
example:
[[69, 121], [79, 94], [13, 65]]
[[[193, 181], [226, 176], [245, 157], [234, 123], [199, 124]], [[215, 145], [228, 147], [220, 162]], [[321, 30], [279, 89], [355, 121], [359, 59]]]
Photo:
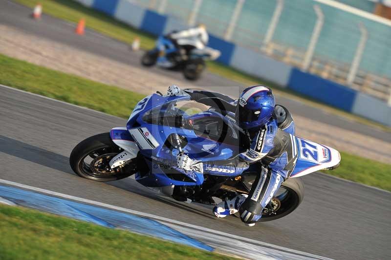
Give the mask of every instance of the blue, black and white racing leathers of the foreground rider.
[[[184, 91], [192, 100], [217, 108], [222, 114], [235, 113], [235, 101], [228, 96], [192, 89]], [[294, 133], [292, 116], [286, 108], [279, 105], [276, 105], [273, 117], [265, 126], [246, 131], [250, 139], [247, 151], [234, 159], [219, 161], [219, 164], [234, 167], [236, 172], [243, 172], [248, 169], [249, 164], [256, 162], [261, 162], [263, 167], [261, 169], [260, 166], [260, 174], [255, 179], [249, 195], [240, 195], [225, 202], [225, 211], [215, 212], [216, 216], [239, 211], [241, 220], [246, 224], [253, 224], [261, 218], [263, 208], [294, 169], [297, 160], [297, 151], [293, 145]], [[208, 162], [205, 164], [205, 170], [208, 170]]]

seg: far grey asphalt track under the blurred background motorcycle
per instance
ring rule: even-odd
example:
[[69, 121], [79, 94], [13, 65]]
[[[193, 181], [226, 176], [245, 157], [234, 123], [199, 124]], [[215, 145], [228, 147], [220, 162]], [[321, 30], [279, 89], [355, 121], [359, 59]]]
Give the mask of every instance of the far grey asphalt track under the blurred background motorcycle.
[[[86, 34], [81, 37], [74, 33], [74, 24], [46, 15], [43, 15], [41, 21], [37, 22], [29, 18], [30, 14], [30, 8], [9, 0], [0, 0], [0, 23], [2, 24], [13, 26], [24, 32], [38, 35], [52, 41], [65, 43], [93, 54], [107, 57], [117, 62], [142, 67], [140, 65], [142, 52], [129, 51], [129, 45], [125, 43], [104, 37], [88, 29], [86, 30]], [[152, 70], [157, 75], [160, 74], [171, 77], [173, 79], [173, 84], [175, 84], [175, 80], [183, 80], [182, 74], [178, 72], [163, 70], [157, 67], [148, 69]], [[244, 87], [237, 82], [224, 79], [208, 72], [204, 73], [203, 77], [196, 83], [189, 83], [189, 85], [194, 84], [202, 87], [218, 87], [220, 91], [221, 87], [231, 86], [231, 88], [227, 88], [227, 90], [223, 92], [233, 97], [239, 96], [240, 89]], [[232, 88], [237, 86], [240, 88]], [[391, 142], [391, 134], [389, 132], [384, 132], [377, 128], [349, 121], [346, 118], [327, 113], [320, 108], [313, 108], [283, 96], [277, 96], [277, 103], [289, 108], [293, 115], [304, 116], [315, 121], [346, 130], [356, 131], [386, 142]]]

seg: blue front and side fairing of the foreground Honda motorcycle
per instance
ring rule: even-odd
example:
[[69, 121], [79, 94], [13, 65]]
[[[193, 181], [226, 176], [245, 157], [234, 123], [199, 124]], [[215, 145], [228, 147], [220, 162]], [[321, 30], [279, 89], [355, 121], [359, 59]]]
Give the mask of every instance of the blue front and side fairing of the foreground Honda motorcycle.
[[[167, 104], [187, 100], [189, 100], [188, 97], [162, 97], [157, 94], [152, 94], [142, 99], [133, 109], [127, 123], [130, 137], [137, 142], [140, 153], [145, 158], [152, 158], [152, 161], [148, 162], [150, 169], [149, 174], [135, 174], [136, 180], [141, 184], [149, 187], [202, 184], [204, 180], [203, 174], [184, 171], [175, 166], [178, 150], [169, 149], [164, 145], [167, 137], [171, 134], [178, 133], [180, 136], [186, 138], [187, 144], [183, 147], [183, 150], [187, 152], [190, 157], [199, 161], [226, 160], [236, 156], [240, 152], [239, 139], [237, 134], [234, 133], [236, 130], [234, 129], [232, 122], [216, 112], [201, 112], [189, 116], [185, 112], [180, 111], [180, 114], [188, 122], [194, 122], [194, 128], [196, 128], [199, 120], [204, 120], [205, 118], [207, 118], [207, 120], [210, 119], [211, 121], [220, 120], [221, 122], [224, 122], [229, 127], [228, 132], [231, 133], [231, 135], [223, 138], [223, 140], [216, 140], [212, 135], [203, 136], [193, 128], [184, 129], [171, 125], [152, 124], [151, 121], [158, 120], [156, 118], [159, 118], [159, 113], [164, 114], [163, 118], [169, 118], [171, 116], [170, 108], [166, 106]], [[174, 113], [179, 112], [177, 110], [173, 111]], [[202, 126], [202, 124], [200, 124], [200, 126]], [[138, 129], [141, 130], [139, 131]], [[227, 138], [230, 139], [228, 144], [225, 142]], [[174, 170], [177, 174], [185, 175], [187, 179], [191, 181], [178, 181], [169, 178], [165, 173], [165, 170], [167, 169], [162, 168], [163, 165], [170, 165], [171, 170]], [[207, 169], [207, 167], [209, 168]], [[205, 164], [204, 168], [205, 171], [208, 172], [214, 167]], [[236, 171], [232, 171], [232, 169], [215, 169], [215, 171], [210, 172], [210, 174], [229, 176], [236, 176], [240, 173], [238, 172], [238, 169]]]

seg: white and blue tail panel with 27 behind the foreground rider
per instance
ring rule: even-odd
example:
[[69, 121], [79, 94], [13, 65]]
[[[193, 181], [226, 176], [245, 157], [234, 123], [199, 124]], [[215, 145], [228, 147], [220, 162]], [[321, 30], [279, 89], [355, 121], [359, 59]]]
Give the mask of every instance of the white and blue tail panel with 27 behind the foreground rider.
[[295, 141], [298, 158], [291, 178], [336, 166], [341, 161], [340, 153], [331, 147], [301, 137], [295, 137]]

